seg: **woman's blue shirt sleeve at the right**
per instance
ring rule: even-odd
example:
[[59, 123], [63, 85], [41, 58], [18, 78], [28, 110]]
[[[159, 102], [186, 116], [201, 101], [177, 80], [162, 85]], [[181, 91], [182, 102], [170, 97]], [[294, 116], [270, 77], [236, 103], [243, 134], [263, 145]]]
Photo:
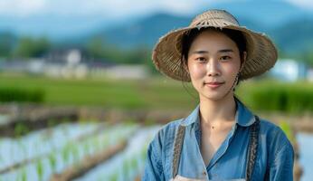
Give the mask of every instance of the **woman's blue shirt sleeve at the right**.
[[[284, 135], [285, 136], [285, 135]], [[274, 149], [274, 157], [270, 160], [270, 180], [293, 180], [294, 150], [288, 138], [280, 140], [282, 147]]]

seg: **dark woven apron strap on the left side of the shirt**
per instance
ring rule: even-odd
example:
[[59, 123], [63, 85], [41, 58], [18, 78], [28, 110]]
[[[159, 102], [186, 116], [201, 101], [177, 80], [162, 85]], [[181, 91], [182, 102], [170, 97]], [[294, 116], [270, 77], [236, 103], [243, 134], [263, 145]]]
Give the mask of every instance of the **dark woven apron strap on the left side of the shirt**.
[[185, 127], [179, 125], [175, 136], [174, 156], [172, 164], [173, 178], [178, 174], [179, 159], [180, 154], [182, 152], [184, 137], [185, 137]]

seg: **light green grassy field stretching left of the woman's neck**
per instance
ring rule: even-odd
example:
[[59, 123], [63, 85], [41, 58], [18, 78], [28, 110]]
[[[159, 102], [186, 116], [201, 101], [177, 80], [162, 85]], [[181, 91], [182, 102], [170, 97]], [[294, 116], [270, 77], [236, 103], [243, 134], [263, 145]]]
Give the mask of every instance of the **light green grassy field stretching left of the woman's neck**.
[[0, 89], [6, 87], [43, 90], [43, 103], [50, 105], [191, 109], [196, 104], [196, 100], [186, 92], [181, 82], [157, 78], [144, 81], [62, 80], [0, 75]]

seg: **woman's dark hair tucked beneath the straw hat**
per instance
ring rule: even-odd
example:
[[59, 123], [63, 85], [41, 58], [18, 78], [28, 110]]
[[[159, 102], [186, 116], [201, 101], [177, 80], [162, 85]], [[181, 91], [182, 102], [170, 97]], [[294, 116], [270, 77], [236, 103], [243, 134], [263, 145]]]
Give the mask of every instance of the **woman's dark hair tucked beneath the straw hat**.
[[[215, 31], [215, 32], [223, 33], [227, 37], [232, 39], [232, 41], [234, 43], [236, 43], [236, 45], [238, 47], [240, 59], [241, 59], [241, 62], [242, 62], [243, 52], [246, 51], [246, 40], [245, 40], [243, 34], [241, 32], [239, 32], [239, 31], [231, 30], [231, 29], [219, 29], [219, 28], [214, 28], [214, 27], [207, 27], [207, 28], [201, 28], [200, 30], [196, 29], [196, 28], [192, 29], [192, 30], [190, 30], [188, 33], [186, 33], [183, 36], [181, 62], [184, 63], [185, 66], [187, 66], [188, 52], [189, 52], [191, 44], [194, 42], [194, 39], [200, 33], [203, 33], [204, 31], [207, 31], [207, 30], [212, 30], [212, 31]], [[240, 78], [239, 78], [239, 80], [240, 80]], [[239, 83], [239, 81], [237, 82], [237, 84], [238, 83]]]

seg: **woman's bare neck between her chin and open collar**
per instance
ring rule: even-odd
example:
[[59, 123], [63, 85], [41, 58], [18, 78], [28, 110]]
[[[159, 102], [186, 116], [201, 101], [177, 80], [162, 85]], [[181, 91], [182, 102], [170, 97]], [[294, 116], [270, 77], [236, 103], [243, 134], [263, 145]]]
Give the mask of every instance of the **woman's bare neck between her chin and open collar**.
[[234, 120], [236, 102], [233, 94], [229, 94], [222, 100], [200, 99], [200, 116], [202, 124], [215, 125], [224, 121]]

